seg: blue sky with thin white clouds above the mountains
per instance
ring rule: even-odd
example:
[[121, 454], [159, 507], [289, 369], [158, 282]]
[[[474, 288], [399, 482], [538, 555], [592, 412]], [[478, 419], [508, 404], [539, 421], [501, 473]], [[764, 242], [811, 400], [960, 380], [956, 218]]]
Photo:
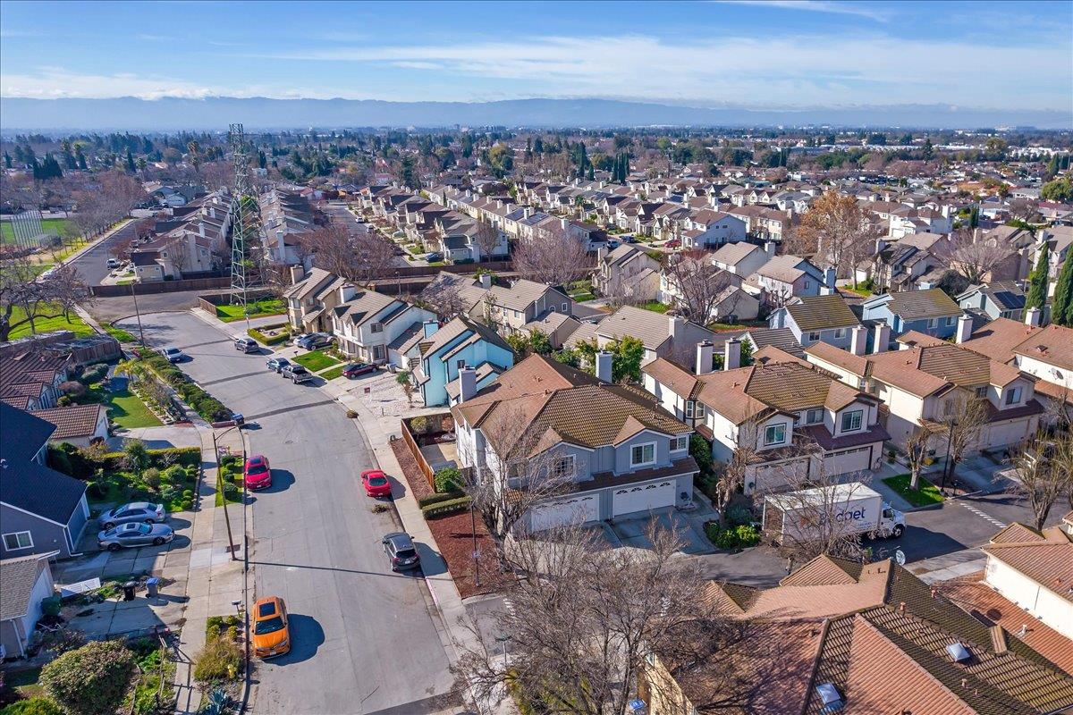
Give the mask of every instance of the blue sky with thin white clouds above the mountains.
[[0, 2], [4, 96], [1073, 104], [1073, 2]]

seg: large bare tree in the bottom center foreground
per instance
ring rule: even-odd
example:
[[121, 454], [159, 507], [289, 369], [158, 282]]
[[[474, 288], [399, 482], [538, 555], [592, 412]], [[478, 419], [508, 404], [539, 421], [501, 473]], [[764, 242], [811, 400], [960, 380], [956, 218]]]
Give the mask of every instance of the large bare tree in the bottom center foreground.
[[512, 550], [519, 578], [491, 617], [509, 651], [474, 632], [452, 668], [482, 712], [511, 694], [536, 712], [624, 715], [649, 653], [676, 653], [684, 628], [718, 623], [696, 564], [673, 557], [679, 539], [655, 520], [646, 535], [648, 549], [609, 549], [565, 527]]

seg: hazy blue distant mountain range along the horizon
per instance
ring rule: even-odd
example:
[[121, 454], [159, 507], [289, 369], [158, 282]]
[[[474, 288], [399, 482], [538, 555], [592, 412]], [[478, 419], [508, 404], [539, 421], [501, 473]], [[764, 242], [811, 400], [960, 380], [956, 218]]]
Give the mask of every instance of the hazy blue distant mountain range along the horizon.
[[1073, 128], [1073, 111], [986, 109], [950, 105], [890, 105], [755, 109], [700, 107], [619, 100], [506, 100], [501, 102], [382, 102], [217, 96], [0, 100], [3, 132], [16, 130], [226, 130], [356, 126], [902, 126], [978, 129], [1001, 125]]

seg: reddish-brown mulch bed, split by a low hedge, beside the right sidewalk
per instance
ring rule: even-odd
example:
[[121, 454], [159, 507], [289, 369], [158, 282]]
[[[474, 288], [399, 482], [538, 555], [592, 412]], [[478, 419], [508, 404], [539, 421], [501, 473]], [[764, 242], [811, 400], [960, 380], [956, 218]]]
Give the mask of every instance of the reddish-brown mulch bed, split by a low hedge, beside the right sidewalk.
[[[395, 458], [402, 468], [402, 477], [410, 487], [410, 492], [414, 498], [430, 496], [435, 492], [428, 486], [425, 475], [417, 468], [410, 449], [407, 448], [402, 440], [392, 443]], [[473, 560], [473, 528], [476, 524], [476, 548], [481, 556], [477, 563]], [[481, 594], [495, 593], [501, 590], [509, 581], [509, 577], [499, 570], [499, 560], [497, 557], [497, 546], [484, 521], [480, 515], [473, 519], [469, 511], [451, 513], [428, 520], [428, 528], [436, 539], [436, 547], [440, 555], [447, 562], [447, 569], [455, 581], [458, 594], [462, 598], [477, 596]], [[480, 568], [480, 585], [476, 583], [476, 571]]]

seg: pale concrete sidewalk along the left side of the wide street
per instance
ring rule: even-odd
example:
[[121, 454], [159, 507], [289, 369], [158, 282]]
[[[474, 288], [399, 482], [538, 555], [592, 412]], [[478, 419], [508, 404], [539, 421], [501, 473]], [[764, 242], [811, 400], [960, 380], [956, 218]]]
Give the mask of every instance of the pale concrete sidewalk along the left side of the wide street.
[[[218, 461], [214, 449], [211, 428], [197, 430], [201, 435], [204, 475], [199, 489], [199, 506], [190, 528], [190, 555], [185, 564], [165, 566], [165, 578], [179, 578], [187, 582], [186, 622], [179, 634], [179, 662], [175, 670], [176, 713], [193, 714], [201, 707], [202, 690], [193, 679], [193, 660], [205, 644], [205, 624], [210, 615], [230, 615], [236, 612], [233, 601], [240, 601], [247, 609], [246, 578], [244, 572], [246, 534], [252, 523], [244, 518], [250, 510], [240, 504], [229, 505], [229, 515], [216, 506]], [[244, 435], [238, 429], [216, 430], [217, 446], [232, 453], [245, 455]], [[236, 543], [235, 557], [229, 553], [226, 516], [231, 517], [231, 535]], [[170, 575], [168, 568], [175, 568]]]

